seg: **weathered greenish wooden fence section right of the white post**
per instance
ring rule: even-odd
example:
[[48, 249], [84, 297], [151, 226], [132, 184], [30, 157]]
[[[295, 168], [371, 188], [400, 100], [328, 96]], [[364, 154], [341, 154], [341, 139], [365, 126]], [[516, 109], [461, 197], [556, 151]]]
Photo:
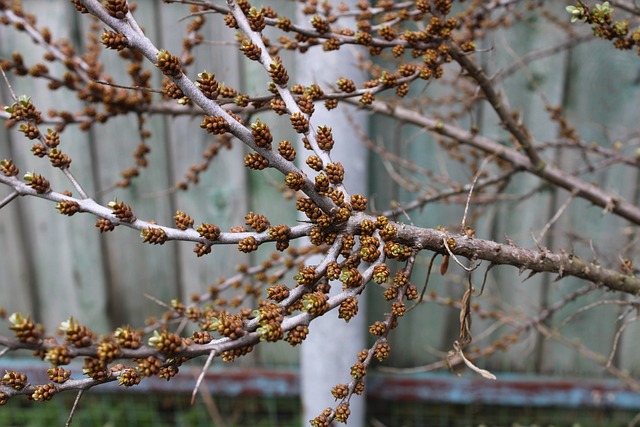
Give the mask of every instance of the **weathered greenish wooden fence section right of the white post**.
[[[558, 4], [556, 7], [560, 16], [565, 13], [563, 5]], [[527, 19], [524, 23], [520, 23], [506, 32], [498, 32], [495, 38], [486, 41], [482, 48], [487, 52], [481, 57], [485, 58], [484, 67], [487, 73], [493, 76], [494, 73], [505, 67], [517, 63], [519, 58], [525, 54], [559, 43], [560, 35], [561, 32], [549, 23]], [[499, 46], [499, 48], [493, 49], [494, 46]], [[598, 58], [598, 61], [593, 61], [594, 57]], [[610, 70], [612, 62], [616, 64], [615, 71], [606, 71]], [[583, 66], [587, 63], [592, 65]], [[562, 106], [567, 109], [568, 119], [575, 123], [579, 130], [591, 128], [592, 132], [587, 131], [581, 134], [582, 138], [589, 142], [597, 141], [599, 144], [607, 144], [609, 141], [609, 146], [612, 146], [615, 139], [621, 138], [625, 131], [629, 132], [630, 129], [634, 129], [636, 118], [631, 118], [631, 116], [632, 112], [637, 113], [639, 107], [637, 85], [634, 86], [633, 83], [637, 76], [637, 58], [629, 52], [616, 52], [606, 42], [593, 41], [579, 47], [570, 56], [566, 52], [561, 52], [545, 59], [533, 61], [524, 68], [524, 71], [504, 81], [504, 92], [508, 94], [510, 107], [522, 114], [524, 123], [533, 131], [538, 143], [558, 139], [557, 127], [549, 126], [545, 104]], [[602, 97], [602, 101], [600, 99], [586, 99], [593, 89], [597, 89], [597, 96]], [[434, 93], [437, 94], [438, 89], [427, 87], [421, 93], [422, 96], [428, 98]], [[489, 110], [490, 108], [487, 106], [477, 111], [474, 121], [479, 125], [482, 133], [499, 141], [505, 140], [505, 144], [508, 144], [505, 132], [497, 125], [499, 120]], [[437, 114], [438, 110], [435, 113]], [[593, 129], [593, 123], [607, 123], [608, 118], [611, 118], [611, 122], [614, 122], [615, 118], [616, 123], [626, 123], [627, 128], [619, 129], [618, 136], [611, 134], [612, 129], [607, 132], [604, 132], [603, 129]], [[449, 164], [446, 159], [437, 157], [442, 154], [438, 154], [433, 140], [428, 136], [416, 138], [415, 135], [418, 132], [418, 129], [412, 129], [410, 126], [404, 126], [404, 129], [400, 129], [397, 123], [384, 117], [376, 117], [371, 135], [389, 152], [408, 157], [418, 166], [435, 168], [436, 170], [447, 168]], [[553, 152], [547, 150], [545, 157], [562, 165], [566, 170], [576, 168], [582, 161], [577, 151], [575, 156], [568, 153], [565, 157], [554, 159]], [[380, 174], [372, 173], [371, 176], [374, 203], [380, 201], [380, 204], [384, 206], [390, 200], [408, 200], [401, 186], [389, 179], [389, 174], [384, 172], [384, 166], [379, 160], [373, 160], [372, 170], [382, 171]], [[473, 178], [468, 171], [455, 167], [449, 169], [448, 173], [452, 177], [462, 177], [463, 181], [466, 177], [467, 182], [471, 182]], [[637, 196], [634, 196], [634, 192], [637, 191], [637, 172], [635, 170], [617, 168], [613, 175], [608, 175], [610, 180], [613, 178], [613, 182], [609, 183], [603, 182], [602, 177], [598, 181], [600, 175], [598, 173], [585, 175], [584, 179], [588, 181], [593, 179], [604, 185], [605, 188], [613, 190], [614, 193], [619, 192], [630, 200], [637, 200]], [[507, 192], [526, 194], [527, 191], [533, 190], [541, 184], [542, 182], [534, 177], [516, 176], [512, 179]], [[427, 181], [425, 190], [428, 185]], [[381, 197], [381, 195], [383, 196]], [[535, 196], [534, 202], [528, 204], [501, 202], [488, 207], [475, 206], [472, 200], [470, 214], [478, 210], [485, 211], [484, 218], [472, 226], [480, 237], [504, 241], [506, 235], [519, 245], [535, 247], [531, 237], [532, 233], [537, 236], [548, 219], [561, 208], [569, 197], [570, 194], [564, 190], [543, 189], [539, 195]], [[535, 208], [532, 209], [531, 206], [535, 206]], [[460, 226], [463, 211], [461, 207], [438, 204], [437, 206], [427, 206], [420, 212], [410, 212], [410, 216], [411, 220], [419, 225], [431, 227], [441, 225], [457, 229]], [[581, 235], [581, 230], [588, 230], [590, 236], [595, 236], [593, 243], [598, 256], [601, 257], [603, 263], [607, 263], [611, 262], [611, 256], [618, 254], [623, 246], [609, 236], [619, 235], [619, 230], [624, 227], [628, 227], [624, 221], [606, 216], [603, 218], [601, 209], [590, 206], [583, 201], [574, 200], [565, 214], [547, 233], [542, 243], [555, 251], [570, 252], [575, 250], [576, 254], [591, 259], [590, 242], [569, 243], [570, 240]], [[635, 233], [632, 234], [632, 236], [634, 235]], [[422, 285], [422, 278], [425, 276], [424, 266], [427, 263], [428, 259], [419, 263], [422, 265], [423, 271], [414, 273], [416, 285]], [[461, 273], [462, 270], [452, 263], [446, 278], [439, 277], [437, 273], [434, 274], [429, 287], [435, 290], [439, 296], [458, 299], [466, 287], [464, 275]], [[475, 274], [475, 282], [481, 280], [482, 274], [483, 269], [481, 268]], [[555, 278], [549, 275], [534, 276], [522, 283], [526, 274], [525, 272], [523, 276], [520, 276], [517, 271], [508, 267], [492, 270], [484, 296], [477, 298], [476, 301], [486, 309], [491, 309], [492, 306], [496, 309], [516, 308], [521, 311], [523, 316], [520, 321], [524, 322], [530, 320], [530, 316], [539, 312], [541, 307], [547, 307], [570, 292], [587, 285], [572, 279], [563, 279], [555, 283]], [[579, 304], [570, 304], [556, 313], [547, 322], [547, 326], [558, 326], [577, 307], [606, 298], [615, 298], [615, 296], [605, 292], [596, 292], [588, 297], [583, 297], [579, 300]], [[380, 317], [385, 312], [385, 303], [375, 297], [372, 297], [371, 300], [371, 314], [375, 312], [377, 317]], [[496, 303], [494, 304], [492, 301], [496, 301]], [[618, 327], [616, 326], [618, 312], [605, 308], [597, 310], [599, 310], [597, 314], [594, 312], [594, 314], [581, 315], [579, 322], [564, 327], [562, 332], [571, 339], [582, 341], [586, 347], [608, 355], [615, 330]], [[630, 317], [632, 316], [630, 315]], [[474, 319], [475, 333], [479, 334], [494, 322]], [[458, 311], [445, 309], [435, 303], [427, 303], [422, 308], [413, 311], [410, 318], [401, 319], [400, 323], [402, 328], [394, 331], [390, 338], [393, 348], [400, 350], [392, 352], [389, 364], [404, 367], [424, 365], [441, 360], [443, 354], [440, 351], [451, 348], [451, 343], [458, 334]], [[429, 328], [425, 325], [439, 325], [439, 327]], [[474, 344], [486, 345], [509, 330], [508, 327], [498, 328], [495, 333]], [[512, 346], [506, 352], [498, 352], [481, 363], [486, 363], [486, 366], [496, 371], [573, 374], [599, 374], [602, 372], [600, 366], [587, 361], [577, 350], [565, 344], [547, 342], [532, 351], [534, 344], [539, 340], [540, 337], [534, 330], [529, 335], [529, 339], [523, 343]], [[637, 336], [627, 334], [623, 343], [631, 341], [637, 342]], [[627, 352], [624, 353], [627, 355], [627, 359], [624, 359], [625, 356], [622, 357], [625, 368], [630, 368], [630, 364], [637, 367], [635, 361], [637, 358], [633, 357], [632, 349], [631, 344], [623, 347], [623, 351]]]

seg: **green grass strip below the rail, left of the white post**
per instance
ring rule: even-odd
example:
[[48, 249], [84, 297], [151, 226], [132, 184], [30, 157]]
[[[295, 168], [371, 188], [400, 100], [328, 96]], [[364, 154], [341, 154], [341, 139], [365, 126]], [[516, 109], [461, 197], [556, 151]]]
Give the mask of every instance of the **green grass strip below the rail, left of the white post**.
[[[0, 407], [2, 427], [63, 426], [73, 406], [73, 394], [55, 396], [46, 403], [25, 398], [10, 399]], [[299, 426], [297, 399], [220, 398], [214, 405], [198, 401], [190, 405], [189, 395], [86, 393], [74, 414], [72, 425], [87, 427], [154, 426]], [[212, 415], [217, 414], [217, 415]]]

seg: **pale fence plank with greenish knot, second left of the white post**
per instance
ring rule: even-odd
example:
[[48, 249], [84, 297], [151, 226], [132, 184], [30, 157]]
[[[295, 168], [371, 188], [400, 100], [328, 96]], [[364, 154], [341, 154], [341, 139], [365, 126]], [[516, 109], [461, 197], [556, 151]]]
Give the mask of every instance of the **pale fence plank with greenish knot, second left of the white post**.
[[[185, 7], [171, 5], [162, 8], [160, 13], [163, 28], [184, 26], [188, 22], [178, 22], [189, 13]], [[222, 16], [212, 14], [204, 18], [209, 21], [209, 25], [203, 28], [205, 42], [194, 52], [195, 61], [188, 67], [189, 77], [195, 81], [197, 74], [206, 70], [215, 73], [218, 82], [237, 88], [240, 84], [240, 67], [232, 35], [226, 31]], [[164, 35], [162, 43], [172, 52], [180, 52], [182, 48], [180, 40], [174, 37]], [[171, 153], [169, 166], [175, 180], [171, 185], [183, 180], [190, 166], [203, 162], [203, 153], [215, 141], [214, 136], [198, 126], [203, 116], [174, 117], [166, 123]], [[227, 231], [232, 226], [244, 223], [249, 193], [242, 166], [243, 157], [242, 144], [233, 140], [231, 150], [220, 150], [208, 169], [200, 174], [199, 184], [175, 194], [175, 208], [194, 218], [194, 227], [203, 222], [213, 223]], [[185, 299], [191, 294], [206, 292], [218, 277], [234, 274], [235, 266], [246, 259], [233, 246], [214, 246], [211, 254], [197, 258], [193, 253], [193, 244], [180, 242], [177, 245], [181, 291]], [[227, 294], [224, 296], [228, 297]]]

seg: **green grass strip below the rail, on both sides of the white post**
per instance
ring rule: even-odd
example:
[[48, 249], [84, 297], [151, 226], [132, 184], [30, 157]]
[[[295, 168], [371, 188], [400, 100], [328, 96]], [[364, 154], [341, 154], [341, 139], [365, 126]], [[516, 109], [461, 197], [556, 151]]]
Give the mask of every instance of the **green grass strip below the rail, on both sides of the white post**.
[[[46, 403], [10, 399], [0, 407], [2, 427], [54, 427], [67, 421], [74, 394]], [[308, 425], [300, 416], [300, 401], [290, 398], [212, 397], [193, 406], [189, 395], [87, 392], [74, 414], [82, 427], [288, 427]], [[636, 415], [607, 409], [518, 408], [483, 405], [437, 405], [421, 402], [370, 400], [365, 425], [386, 427], [598, 427], [627, 426]], [[223, 420], [223, 423], [216, 422]]]

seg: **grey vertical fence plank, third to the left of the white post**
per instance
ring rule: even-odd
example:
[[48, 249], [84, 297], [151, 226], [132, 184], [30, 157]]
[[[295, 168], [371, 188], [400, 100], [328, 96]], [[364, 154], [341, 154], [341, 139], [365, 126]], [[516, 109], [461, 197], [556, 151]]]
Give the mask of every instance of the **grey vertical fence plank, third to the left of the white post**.
[[[141, 2], [134, 12], [152, 40], [157, 39], [161, 31], [154, 21], [155, 7], [150, 2]], [[86, 16], [83, 18], [86, 28], [90, 20]], [[105, 71], [113, 76], [117, 84], [130, 83], [125, 70], [126, 64], [119, 59], [117, 52], [104, 51], [102, 59]], [[152, 70], [152, 84], [158, 87], [160, 73], [146, 61], [143, 67]], [[120, 180], [121, 171], [134, 165], [133, 152], [140, 142], [136, 118], [131, 115], [117, 117], [111, 119], [107, 126], [94, 126], [91, 143], [95, 153], [94, 162], [98, 165], [98, 200], [106, 204], [117, 198], [130, 205], [138, 218], [166, 224], [171, 221], [170, 204], [166, 197], [155, 196], [171, 185], [167, 179], [169, 159], [166, 157], [163, 119], [148, 119], [146, 128], [152, 133], [146, 141], [151, 147], [151, 152], [147, 155], [149, 167], [141, 170], [140, 176], [133, 180], [129, 188], [122, 189], [114, 188], [113, 185]], [[164, 311], [149, 301], [145, 294], [162, 301], [169, 301], [176, 296], [178, 283], [174, 268], [175, 254], [171, 245], [144, 245], [138, 233], [124, 228], [116, 228], [101, 237], [104, 239], [105, 262], [110, 279], [112, 321], [115, 324], [140, 325], [144, 317]], [[132, 252], [135, 256], [132, 256]]]

